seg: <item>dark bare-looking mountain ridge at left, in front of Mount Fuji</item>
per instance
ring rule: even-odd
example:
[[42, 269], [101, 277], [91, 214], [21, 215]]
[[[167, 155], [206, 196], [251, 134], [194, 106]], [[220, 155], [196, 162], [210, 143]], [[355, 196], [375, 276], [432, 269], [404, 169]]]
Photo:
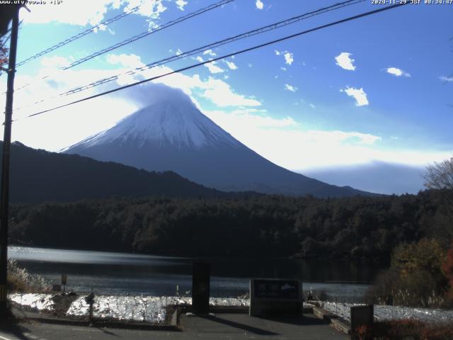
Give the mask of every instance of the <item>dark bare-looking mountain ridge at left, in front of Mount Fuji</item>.
[[[2, 147], [0, 141], [0, 156]], [[110, 196], [218, 197], [225, 193], [173, 172], [148, 172], [78, 155], [36, 150], [18, 142], [11, 145], [11, 203]]]

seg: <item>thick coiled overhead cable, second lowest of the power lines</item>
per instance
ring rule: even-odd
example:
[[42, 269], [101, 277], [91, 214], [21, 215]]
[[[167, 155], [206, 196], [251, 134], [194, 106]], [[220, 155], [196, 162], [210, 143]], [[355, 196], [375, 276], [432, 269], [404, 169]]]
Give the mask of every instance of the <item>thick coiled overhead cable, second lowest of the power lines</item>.
[[[104, 79], [101, 79], [101, 80], [93, 81], [90, 84], [76, 87], [76, 88], [71, 89], [69, 91], [66, 91], [66, 92], [64, 92], [62, 94], [59, 94], [58, 96], [68, 96], [70, 94], [76, 94], [76, 93], [78, 93], [80, 91], [84, 91], [86, 89], [91, 89], [91, 88], [93, 88], [95, 86], [98, 86], [98, 85], [101, 85], [101, 84], [106, 84], [106, 83], [108, 83], [110, 81], [115, 81], [115, 80], [119, 79], [122, 76], [130, 76], [130, 75], [133, 75], [133, 74], [137, 74], [138, 72], [142, 72], [142, 71], [147, 70], [147, 69], [152, 69], [154, 67], [158, 67], [158, 66], [161, 66], [163, 64], [168, 64], [169, 62], [173, 62], [173, 61], [176, 61], [176, 60], [181, 60], [183, 58], [190, 57], [191, 55], [196, 55], [196, 54], [198, 54], [200, 52], [205, 52], [207, 50], [212, 50], [213, 48], [229, 44], [230, 42], [235, 42], [237, 40], [241, 40], [241, 39], [244, 39], [244, 38], [249, 38], [249, 37], [251, 37], [253, 35], [266, 33], [266, 32], [268, 32], [270, 30], [275, 30], [277, 28], [282, 28], [282, 27], [288, 26], [288, 25], [290, 25], [292, 23], [297, 23], [299, 21], [302, 21], [302, 20], [304, 20], [306, 18], [311, 18], [312, 16], [318, 16], [318, 15], [320, 15], [322, 13], [326, 13], [328, 11], [333, 11], [333, 10], [336, 10], [336, 9], [339, 9], [339, 8], [343, 8], [345, 6], [351, 6], [351, 5], [358, 4], [358, 3], [364, 2], [364, 1], [367, 1], [367, 0], [348, 0], [348, 1], [340, 2], [338, 4], [333, 4], [332, 6], [319, 8], [316, 11], [311, 11], [309, 13], [304, 13], [304, 14], [302, 14], [300, 16], [294, 16], [293, 18], [289, 18], [289, 19], [284, 20], [284, 21], [279, 21], [277, 23], [273, 23], [273, 24], [270, 24], [268, 26], [263, 26], [263, 27], [260, 27], [260, 28], [256, 28], [255, 30], [250, 30], [250, 31], [248, 31], [246, 33], [241, 33], [239, 35], [234, 35], [233, 37], [230, 37], [230, 38], [219, 40], [217, 42], [212, 42], [211, 44], [208, 44], [208, 45], [205, 45], [205, 46], [202, 46], [202, 47], [197, 47], [197, 48], [195, 48], [193, 50], [190, 50], [190, 51], [187, 51], [187, 52], [181, 52], [178, 55], [173, 55], [171, 57], [167, 57], [167, 58], [159, 60], [157, 62], [151, 62], [149, 64], [144, 65], [143, 67], [137, 67], [135, 69], [132, 69], [130, 71], [127, 71], [127, 72], [124, 72], [124, 73], [121, 73], [121, 74], [116, 74], [116, 75], [111, 76], [111, 77], [107, 77], [107, 78], [104, 78]], [[55, 96], [55, 97], [52, 97], [52, 98], [57, 98], [58, 96]]]

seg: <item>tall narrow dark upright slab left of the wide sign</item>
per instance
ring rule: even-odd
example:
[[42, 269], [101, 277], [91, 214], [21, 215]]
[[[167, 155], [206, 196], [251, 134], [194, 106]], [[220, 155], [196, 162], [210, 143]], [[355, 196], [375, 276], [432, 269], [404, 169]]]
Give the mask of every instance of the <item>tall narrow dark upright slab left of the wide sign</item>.
[[210, 312], [210, 263], [193, 263], [192, 309], [195, 314]]

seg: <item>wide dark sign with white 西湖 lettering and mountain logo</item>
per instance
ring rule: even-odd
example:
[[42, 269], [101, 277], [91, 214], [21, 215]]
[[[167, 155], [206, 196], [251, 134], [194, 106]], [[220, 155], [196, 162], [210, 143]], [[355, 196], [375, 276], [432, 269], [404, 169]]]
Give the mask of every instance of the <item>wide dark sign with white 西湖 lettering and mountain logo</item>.
[[302, 283], [299, 280], [255, 278], [250, 280], [250, 315], [302, 314]]

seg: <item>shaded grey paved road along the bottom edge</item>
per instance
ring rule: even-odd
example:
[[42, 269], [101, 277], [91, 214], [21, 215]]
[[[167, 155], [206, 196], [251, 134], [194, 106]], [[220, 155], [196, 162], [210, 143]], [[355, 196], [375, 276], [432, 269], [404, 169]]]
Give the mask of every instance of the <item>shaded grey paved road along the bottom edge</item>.
[[28, 322], [0, 331], [0, 340], [113, 340], [113, 339], [350, 339], [313, 316], [304, 319], [268, 320], [247, 314], [182, 317], [183, 331], [142, 331], [75, 327]]

